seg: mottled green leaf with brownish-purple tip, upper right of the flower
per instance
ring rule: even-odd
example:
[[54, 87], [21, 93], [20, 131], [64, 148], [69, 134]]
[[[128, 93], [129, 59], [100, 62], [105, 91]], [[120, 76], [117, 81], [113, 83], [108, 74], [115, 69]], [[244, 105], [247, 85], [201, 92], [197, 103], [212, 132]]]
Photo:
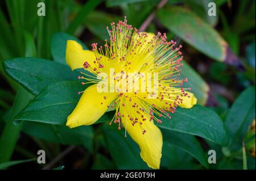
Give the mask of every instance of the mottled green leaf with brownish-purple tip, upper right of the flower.
[[210, 58], [243, 68], [240, 60], [218, 32], [192, 11], [172, 6], [159, 10], [158, 18], [164, 27]]

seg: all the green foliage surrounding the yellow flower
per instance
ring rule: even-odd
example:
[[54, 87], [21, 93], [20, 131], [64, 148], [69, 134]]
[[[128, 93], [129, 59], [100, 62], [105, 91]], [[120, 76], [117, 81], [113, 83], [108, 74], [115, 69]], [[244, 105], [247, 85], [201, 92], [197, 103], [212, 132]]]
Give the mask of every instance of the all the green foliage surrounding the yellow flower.
[[[46, 4], [46, 16], [36, 15], [38, 2]], [[84, 49], [103, 44], [110, 22], [126, 15], [139, 28], [155, 11], [146, 31], [166, 31], [183, 44], [181, 77], [188, 78], [184, 86], [199, 103], [178, 108], [171, 121], [158, 124], [164, 140], [160, 168], [255, 169], [255, 1], [216, 0], [214, 17], [207, 15], [208, 1], [168, 1], [156, 10], [159, 2], [0, 2], [0, 169], [24, 162], [42, 169], [31, 162], [37, 150], [46, 150], [51, 160], [68, 145], [83, 154], [63, 158], [59, 165], [65, 168], [55, 170], [149, 169], [124, 129], [108, 125], [113, 111], [91, 126], [65, 126], [77, 92], [86, 87], [77, 79], [79, 71], [65, 63], [65, 47], [67, 40]], [[217, 164], [208, 163], [212, 149]], [[17, 157], [22, 160], [10, 161]]]

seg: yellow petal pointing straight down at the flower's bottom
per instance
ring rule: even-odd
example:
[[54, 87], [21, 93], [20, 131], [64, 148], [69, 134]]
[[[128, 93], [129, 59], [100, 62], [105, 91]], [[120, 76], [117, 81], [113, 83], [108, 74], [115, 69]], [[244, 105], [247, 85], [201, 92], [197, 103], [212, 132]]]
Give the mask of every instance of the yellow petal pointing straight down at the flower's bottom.
[[160, 159], [162, 157], [163, 136], [153, 121], [144, 121], [141, 125], [146, 133], [142, 134], [139, 123], [131, 124], [131, 121], [122, 119], [123, 127], [130, 134], [131, 138], [139, 145], [141, 149], [141, 158], [152, 169], [159, 169]]

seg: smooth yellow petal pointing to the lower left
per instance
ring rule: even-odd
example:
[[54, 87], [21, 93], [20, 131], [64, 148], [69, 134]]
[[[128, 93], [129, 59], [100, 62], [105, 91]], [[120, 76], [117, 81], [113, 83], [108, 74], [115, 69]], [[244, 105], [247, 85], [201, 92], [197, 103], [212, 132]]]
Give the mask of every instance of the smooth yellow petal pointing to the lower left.
[[75, 110], [68, 116], [69, 128], [95, 123], [108, 110], [108, 106], [117, 98], [117, 94], [98, 92], [97, 84], [88, 87], [82, 94]]

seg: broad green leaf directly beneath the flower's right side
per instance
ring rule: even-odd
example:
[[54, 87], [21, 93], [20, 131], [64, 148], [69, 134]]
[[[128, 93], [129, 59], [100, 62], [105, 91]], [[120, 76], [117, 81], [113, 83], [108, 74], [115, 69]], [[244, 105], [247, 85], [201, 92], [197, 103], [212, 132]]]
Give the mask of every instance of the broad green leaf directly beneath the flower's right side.
[[171, 116], [171, 119], [160, 117], [162, 124], [157, 124], [158, 127], [200, 136], [220, 145], [228, 144], [224, 123], [214, 111], [208, 108], [199, 105], [190, 109], [178, 107]]

